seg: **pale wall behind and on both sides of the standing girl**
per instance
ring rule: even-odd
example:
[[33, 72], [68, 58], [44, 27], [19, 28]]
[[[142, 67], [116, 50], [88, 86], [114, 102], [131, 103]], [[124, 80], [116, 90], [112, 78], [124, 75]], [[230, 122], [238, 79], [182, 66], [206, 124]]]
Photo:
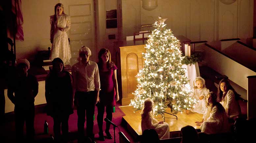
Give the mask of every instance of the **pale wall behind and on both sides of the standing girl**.
[[67, 32], [71, 40], [71, 65], [77, 62], [82, 45], [91, 48], [91, 60], [97, 59], [93, 0], [23, 0], [24, 41], [16, 41], [17, 59], [32, 61], [38, 50], [51, 47], [50, 15], [54, 14], [54, 6], [59, 2], [64, 5], [65, 13], [71, 16], [71, 29]]

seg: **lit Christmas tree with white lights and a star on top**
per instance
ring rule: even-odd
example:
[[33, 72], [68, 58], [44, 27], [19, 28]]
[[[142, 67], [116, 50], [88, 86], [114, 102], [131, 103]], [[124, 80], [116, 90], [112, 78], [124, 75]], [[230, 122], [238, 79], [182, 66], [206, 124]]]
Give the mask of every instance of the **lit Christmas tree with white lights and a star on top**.
[[154, 24], [156, 29], [149, 35], [146, 53], [142, 53], [145, 64], [136, 76], [137, 89], [130, 103], [136, 110], [141, 110], [144, 100], [151, 98], [155, 102], [155, 115], [162, 117], [167, 107], [177, 114], [182, 109], [190, 110], [197, 102], [189, 96], [191, 89], [186, 69], [182, 68], [184, 57], [180, 42], [167, 29], [165, 21], [159, 16]]

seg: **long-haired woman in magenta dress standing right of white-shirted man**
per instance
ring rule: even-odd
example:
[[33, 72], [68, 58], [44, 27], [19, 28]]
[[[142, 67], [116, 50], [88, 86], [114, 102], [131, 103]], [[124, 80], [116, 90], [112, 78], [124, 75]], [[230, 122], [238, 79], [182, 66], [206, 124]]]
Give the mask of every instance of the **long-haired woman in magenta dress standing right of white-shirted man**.
[[[98, 116], [97, 122], [99, 126], [99, 140], [104, 141], [103, 135], [103, 115], [106, 107], [106, 118], [112, 120], [112, 109], [115, 105], [115, 101], [119, 100], [118, 85], [116, 77], [116, 65], [111, 62], [111, 55], [108, 49], [102, 48], [98, 54], [98, 67], [100, 74], [100, 102], [97, 104]], [[106, 138], [112, 139], [112, 135], [109, 133], [110, 124], [106, 123]]]

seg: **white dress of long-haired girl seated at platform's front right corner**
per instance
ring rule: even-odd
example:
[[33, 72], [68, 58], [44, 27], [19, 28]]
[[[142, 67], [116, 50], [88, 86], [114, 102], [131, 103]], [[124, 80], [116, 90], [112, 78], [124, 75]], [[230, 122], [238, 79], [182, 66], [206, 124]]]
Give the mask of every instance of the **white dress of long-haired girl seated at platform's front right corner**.
[[[210, 107], [209, 107], [210, 108]], [[226, 133], [228, 132], [228, 117], [224, 109], [221, 105], [214, 106], [212, 112], [210, 113], [210, 117], [204, 121], [200, 130], [202, 133], [206, 134], [218, 134], [218, 133]]]

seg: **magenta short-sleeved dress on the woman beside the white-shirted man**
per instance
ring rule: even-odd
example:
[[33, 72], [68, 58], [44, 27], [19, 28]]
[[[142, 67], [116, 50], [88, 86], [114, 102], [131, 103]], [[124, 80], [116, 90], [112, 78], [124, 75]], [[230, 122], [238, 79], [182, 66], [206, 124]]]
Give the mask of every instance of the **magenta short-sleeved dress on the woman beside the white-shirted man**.
[[103, 105], [115, 105], [115, 87], [113, 82], [114, 70], [117, 67], [114, 65], [110, 70], [103, 72], [99, 70], [100, 74], [100, 103]]

